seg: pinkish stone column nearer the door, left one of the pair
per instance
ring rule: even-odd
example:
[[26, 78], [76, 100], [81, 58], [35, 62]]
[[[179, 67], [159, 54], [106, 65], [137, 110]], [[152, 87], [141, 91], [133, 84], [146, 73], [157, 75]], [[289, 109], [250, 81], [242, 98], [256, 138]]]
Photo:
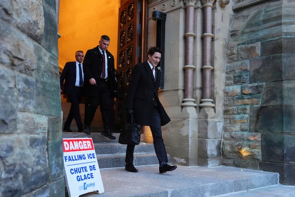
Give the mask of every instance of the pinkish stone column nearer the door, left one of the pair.
[[185, 59], [184, 59], [184, 99], [182, 107], [196, 107], [195, 99], [193, 99], [193, 83], [194, 83], [194, 19], [195, 4], [197, 0], [184, 0], [185, 4]]

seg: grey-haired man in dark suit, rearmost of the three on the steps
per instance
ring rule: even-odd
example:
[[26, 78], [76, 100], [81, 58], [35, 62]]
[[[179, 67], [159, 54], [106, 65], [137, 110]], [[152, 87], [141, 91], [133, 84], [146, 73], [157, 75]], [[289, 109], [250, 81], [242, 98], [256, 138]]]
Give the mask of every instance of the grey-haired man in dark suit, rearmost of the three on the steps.
[[[70, 125], [73, 119], [75, 119], [78, 131], [83, 131], [83, 124], [81, 121], [79, 104], [81, 102], [83, 93], [84, 73], [83, 73], [83, 51], [77, 51], [75, 53], [75, 62], [67, 62], [60, 75], [60, 92], [67, 95], [71, 101], [71, 109], [64, 122], [64, 131], [72, 131]], [[64, 82], [65, 81], [65, 82]], [[63, 84], [64, 82], [64, 84]]]

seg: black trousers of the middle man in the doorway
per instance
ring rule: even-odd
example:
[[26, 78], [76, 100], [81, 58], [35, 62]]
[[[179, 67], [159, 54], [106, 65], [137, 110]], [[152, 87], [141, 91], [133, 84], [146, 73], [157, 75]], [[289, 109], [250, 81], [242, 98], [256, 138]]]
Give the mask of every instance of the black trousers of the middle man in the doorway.
[[115, 98], [111, 96], [110, 82], [99, 82], [98, 94], [87, 96], [85, 102], [84, 125], [90, 126], [94, 118], [96, 109], [100, 105], [100, 113], [104, 130], [115, 130]]

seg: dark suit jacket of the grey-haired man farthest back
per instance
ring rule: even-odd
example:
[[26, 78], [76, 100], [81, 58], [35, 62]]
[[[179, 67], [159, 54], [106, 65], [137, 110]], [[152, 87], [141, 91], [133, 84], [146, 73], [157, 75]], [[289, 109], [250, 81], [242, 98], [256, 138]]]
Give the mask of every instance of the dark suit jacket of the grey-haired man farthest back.
[[72, 93], [72, 91], [75, 88], [75, 83], [76, 83], [76, 62], [67, 62], [65, 63], [65, 66], [60, 75], [60, 89], [62, 90], [63, 88], [63, 94], [69, 95], [70, 93]]

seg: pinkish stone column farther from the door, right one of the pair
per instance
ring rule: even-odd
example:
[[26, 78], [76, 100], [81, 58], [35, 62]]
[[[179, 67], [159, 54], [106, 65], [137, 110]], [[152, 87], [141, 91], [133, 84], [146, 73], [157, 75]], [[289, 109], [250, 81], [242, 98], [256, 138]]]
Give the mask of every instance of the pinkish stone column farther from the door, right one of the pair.
[[211, 51], [212, 51], [212, 7], [215, 0], [200, 0], [203, 4], [204, 33], [203, 38], [203, 66], [202, 66], [202, 99], [200, 107], [215, 107], [211, 99]]

